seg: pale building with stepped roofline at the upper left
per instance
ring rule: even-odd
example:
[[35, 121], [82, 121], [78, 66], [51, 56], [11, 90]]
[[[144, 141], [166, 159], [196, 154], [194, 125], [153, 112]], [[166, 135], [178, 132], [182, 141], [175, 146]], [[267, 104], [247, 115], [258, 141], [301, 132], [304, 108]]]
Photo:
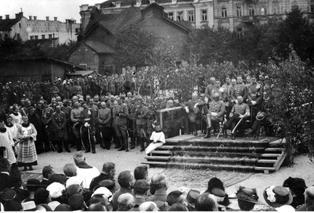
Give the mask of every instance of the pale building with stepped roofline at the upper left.
[[23, 13], [17, 13], [15, 18], [0, 16], [0, 39], [21, 38], [26, 40], [58, 39], [58, 43], [65, 43], [70, 40], [77, 40], [77, 33], [80, 32], [80, 23], [73, 19], [66, 19], [65, 23], [53, 20], [47, 16], [46, 20], [38, 20], [37, 16], [26, 18]]

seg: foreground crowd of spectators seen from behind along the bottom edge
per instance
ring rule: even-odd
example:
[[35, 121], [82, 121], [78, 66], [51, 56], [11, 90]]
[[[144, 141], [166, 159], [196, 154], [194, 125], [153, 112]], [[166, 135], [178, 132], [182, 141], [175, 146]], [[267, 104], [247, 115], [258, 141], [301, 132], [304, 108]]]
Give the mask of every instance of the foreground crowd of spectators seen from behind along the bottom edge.
[[[16, 164], [10, 168], [9, 161], [1, 158], [1, 211], [254, 211], [257, 205], [278, 212], [314, 210], [314, 186], [307, 187], [302, 178], [289, 177], [282, 185], [266, 187], [263, 195], [246, 186], [227, 195], [218, 178], [210, 179], [202, 192], [187, 187], [169, 192], [166, 175], [156, 173], [148, 180], [146, 166], [136, 167], [133, 173], [123, 171], [115, 180], [114, 163], [104, 163], [99, 172], [85, 162], [82, 151], [73, 160], [64, 165], [63, 174], [48, 165], [41, 181], [31, 178], [23, 183]], [[237, 200], [237, 208], [229, 207], [232, 200]]]

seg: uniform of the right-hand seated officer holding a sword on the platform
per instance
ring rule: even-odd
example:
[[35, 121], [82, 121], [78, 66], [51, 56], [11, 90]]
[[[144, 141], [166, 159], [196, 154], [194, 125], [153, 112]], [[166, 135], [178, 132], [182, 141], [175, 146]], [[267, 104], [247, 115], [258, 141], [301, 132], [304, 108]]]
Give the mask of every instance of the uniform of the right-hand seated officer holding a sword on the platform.
[[[249, 117], [249, 105], [242, 103], [242, 104], [234, 104], [234, 106], [232, 107], [231, 110], [232, 116], [230, 117], [230, 119], [224, 124], [224, 128], [230, 128], [231, 130], [234, 129], [234, 127], [237, 125], [237, 123], [239, 122], [240, 115], [245, 115], [244, 118], [242, 119], [242, 121], [244, 119], [246, 119], [247, 117]], [[242, 122], [243, 124], [243, 122]], [[238, 126], [238, 130], [239, 130], [239, 135], [240, 136], [244, 136], [244, 126], [239, 124]], [[232, 135], [232, 139], [234, 139], [234, 134]]]

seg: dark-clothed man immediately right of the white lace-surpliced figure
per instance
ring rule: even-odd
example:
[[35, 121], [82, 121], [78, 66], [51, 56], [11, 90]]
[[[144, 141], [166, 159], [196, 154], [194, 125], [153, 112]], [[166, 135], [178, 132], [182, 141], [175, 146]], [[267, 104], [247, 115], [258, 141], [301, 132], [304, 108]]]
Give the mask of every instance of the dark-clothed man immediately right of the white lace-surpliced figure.
[[31, 107], [30, 109], [30, 114], [29, 114], [29, 122], [33, 124], [37, 131], [37, 136], [36, 136], [36, 141], [35, 141], [35, 146], [36, 146], [36, 151], [37, 154], [39, 155], [40, 153], [43, 153], [43, 143], [46, 141], [45, 138], [45, 129], [43, 125], [43, 121], [40, 119], [40, 116], [35, 113], [35, 108]]

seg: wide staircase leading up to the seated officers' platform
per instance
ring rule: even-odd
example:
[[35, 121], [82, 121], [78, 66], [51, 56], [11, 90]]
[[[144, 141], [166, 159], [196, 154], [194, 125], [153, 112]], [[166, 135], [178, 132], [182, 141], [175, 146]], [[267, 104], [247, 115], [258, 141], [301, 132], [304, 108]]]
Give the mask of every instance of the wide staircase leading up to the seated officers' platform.
[[166, 139], [164, 146], [146, 157], [150, 167], [277, 171], [286, 158], [284, 141], [276, 138], [202, 138], [183, 135]]

